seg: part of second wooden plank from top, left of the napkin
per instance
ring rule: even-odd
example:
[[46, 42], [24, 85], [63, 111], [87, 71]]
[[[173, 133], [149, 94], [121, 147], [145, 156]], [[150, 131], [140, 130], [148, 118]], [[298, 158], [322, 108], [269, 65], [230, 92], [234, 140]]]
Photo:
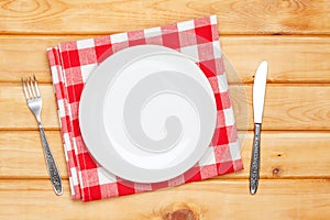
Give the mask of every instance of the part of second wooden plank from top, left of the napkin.
[[[81, 37], [81, 36], [80, 36]], [[35, 74], [40, 82], [51, 82], [46, 48], [73, 37], [0, 37], [0, 81], [20, 81], [21, 77]]]

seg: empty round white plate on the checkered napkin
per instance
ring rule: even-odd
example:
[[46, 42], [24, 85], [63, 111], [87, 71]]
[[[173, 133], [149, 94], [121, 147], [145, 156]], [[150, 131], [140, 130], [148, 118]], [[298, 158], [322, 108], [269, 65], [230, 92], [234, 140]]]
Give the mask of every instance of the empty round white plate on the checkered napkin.
[[174, 178], [204, 155], [217, 121], [212, 88], [201, 69], [163, 46], [120, 51], [89, 76], [79, 124], [94, 158], [138, 183]]

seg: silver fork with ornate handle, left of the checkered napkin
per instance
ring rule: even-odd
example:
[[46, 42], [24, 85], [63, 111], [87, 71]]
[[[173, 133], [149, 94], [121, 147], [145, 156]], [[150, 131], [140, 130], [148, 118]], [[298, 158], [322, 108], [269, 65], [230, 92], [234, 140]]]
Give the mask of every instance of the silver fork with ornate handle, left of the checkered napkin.
[[29, 77], [29, 78], [26, 78], [26, 80], [24, 80], [22, 78], [22, 87], [23, 87], [23, 91], [25, 95], [28, 107], [34, 114], [37, 125], [38, 125], [41, 141], [42, 141], [43, 148], [44, 148], [44, 156], [46, 160], [47, 170], [51, 176], [51, 182], [52, 182], [53, 188], [54, 188], [56, 195], [62, 195], [63, 188], [62, 188], [62, 179], [61, 179], [59, 170], [57, 168], [55, 158], [50, 148], [50, 145], [48, 145], [48, 142], [47, 142], [47, 139], [45, 135], [45, 131], [43, 129], [41, 118], [40, 118], [41, 110], [42, 110], [42, 97], [40, 95], [40, 90], [38, 90], [38, 86], [37, 86], [35, 76], [33, 75], [33, 79], [31, 79], [31, 77]]

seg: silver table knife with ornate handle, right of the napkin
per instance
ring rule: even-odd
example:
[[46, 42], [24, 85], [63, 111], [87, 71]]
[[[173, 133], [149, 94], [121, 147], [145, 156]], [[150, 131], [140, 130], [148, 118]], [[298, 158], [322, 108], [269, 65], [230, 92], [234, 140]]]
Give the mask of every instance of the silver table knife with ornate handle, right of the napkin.
[[250, 193], [252, 195], [256, 193], [258, 184], [261, 125], [263, 121], [267, 69], [268, 63], [266, 61], [262, 62], [256, 69], [253, 84], [254, 140], [250, 167]]

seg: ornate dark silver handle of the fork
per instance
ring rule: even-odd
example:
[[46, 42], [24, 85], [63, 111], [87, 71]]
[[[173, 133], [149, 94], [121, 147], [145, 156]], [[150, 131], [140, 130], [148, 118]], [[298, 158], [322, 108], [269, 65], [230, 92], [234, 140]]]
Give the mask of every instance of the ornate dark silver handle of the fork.
[[42, 144], [43, 144], [43, 147], [44, 147], [44, 155], [45, 155], [45, 160], [46, 160], [47, 170], [48, 170], [48, 174], [51, 176], [51, 182], [52, 182], [53, 188], [55, 190], [55, 194], [59, 196], [63, 193], [59, 170], [57, 168], [56, 162], [55, 162], [54, 156], [52, 154], [50, 144], [47, 142], [45, 131], [44, 131], [44, 129], [43, 129], [43, 127], [40, 122], [38, 122], [38, 130], [40, 130]]

